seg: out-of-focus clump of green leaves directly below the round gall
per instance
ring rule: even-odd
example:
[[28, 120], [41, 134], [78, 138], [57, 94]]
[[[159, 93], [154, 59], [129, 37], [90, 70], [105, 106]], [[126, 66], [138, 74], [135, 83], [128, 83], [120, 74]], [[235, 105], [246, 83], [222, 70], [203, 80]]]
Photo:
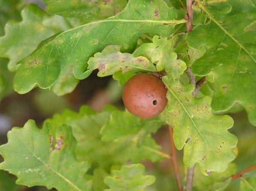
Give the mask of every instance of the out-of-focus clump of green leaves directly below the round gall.
[[[113, 120], [116, 117], [125, 124], [122, 125], [122, 129], [125, 128], [127, 134], [118, 133], [121, 123], [119, 120]], [[157, 161], [169, 157], [160, 151], [160, 146], [150, 137], [150, 133], [159, 128], [163, 122], [157, 119], [141, 120], [128, 111], [119, 111], [111, 106], [106, 106], [102, 112], [96, 113], [85, 105], [80, 108], [79, 113], [66, 110], [62, 115], [55, 114], [45, 123], [51, 124], [53, 136], [59, 125], [64, 123], [72, 126], [73, 135], [78, 141], [77, 158], [81, 161], [87, 160], [106, 170], [112, 165], [123, 165], [128, 160], [136, 163], [143, 159]], [[153, 129], [151, 131], [146, 129], [148, 127], [146, 124], [153, 125]], [[105, 126], [102, 129], [102, 137], [100, 130], [103, 125]], [[142, 127], [144, 128], [140, 129]], [[133, 139], [128, 139], [129, 136]], [[121, 137], [128, 138], [120, 139], [118, 143], [113, 142], [114, 139]]]

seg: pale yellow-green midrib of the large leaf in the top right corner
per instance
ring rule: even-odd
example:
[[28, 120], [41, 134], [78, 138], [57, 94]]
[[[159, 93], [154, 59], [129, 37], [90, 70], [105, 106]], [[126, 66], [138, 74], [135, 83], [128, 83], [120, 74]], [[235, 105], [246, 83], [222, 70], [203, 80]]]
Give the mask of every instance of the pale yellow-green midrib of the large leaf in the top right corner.
[[204, 7], [204, 5], [198, 1], [198, 5], [199, 7], [207, 14], [207, 16], [209, 17], [210, 20], [212, 20], [222, 31], [224, 31], [225, 34], [227, 34], [235, 43], [237, 43], [242, 49], [244, 49], [244, 51], [253, 59], [254, 63], [256, 63], [256, 60], [254, 59], [254, 57], [250, 54], [250, 52], [244, 48], [244, 46], [242, 46], [238, 40], [236, 40], [226, 29], [224, 29], [223, 26], [221, 26], [220, 23], [218, 23], [217, 20], [215, 20], [215, 18], [212, 16], [212, 14], [210, 14], [207, 9]]

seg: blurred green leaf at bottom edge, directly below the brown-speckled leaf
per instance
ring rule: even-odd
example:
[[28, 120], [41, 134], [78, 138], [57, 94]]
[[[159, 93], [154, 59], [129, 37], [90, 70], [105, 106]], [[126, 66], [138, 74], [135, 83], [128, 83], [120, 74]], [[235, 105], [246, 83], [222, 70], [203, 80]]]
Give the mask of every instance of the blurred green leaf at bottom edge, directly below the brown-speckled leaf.
[[236, 173], [237, 165], [230, 163], [222, 173], [212, 172], [204, 176], [196, 165], [193, 177], [193, 191], [223, 191], [231, 182], [230, 176]]

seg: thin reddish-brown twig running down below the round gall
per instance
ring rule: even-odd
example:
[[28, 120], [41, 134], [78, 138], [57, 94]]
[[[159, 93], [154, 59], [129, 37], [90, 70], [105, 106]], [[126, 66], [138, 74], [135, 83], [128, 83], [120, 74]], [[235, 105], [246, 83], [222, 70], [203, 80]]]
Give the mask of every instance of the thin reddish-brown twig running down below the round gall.
[[170, 126], [168, 126], [168, 129], [169, 129], [169, 137], [170, 137], [170, 143], [171, 143], [171, 160], [172, 160], [172, 165], [175, 172], [176, 183], [177, 183], [178, 190], [183, 191], [181, 180], [180, 180], [178, 162], [177, 162], [176, 148], [173, 141], [173, 129]]

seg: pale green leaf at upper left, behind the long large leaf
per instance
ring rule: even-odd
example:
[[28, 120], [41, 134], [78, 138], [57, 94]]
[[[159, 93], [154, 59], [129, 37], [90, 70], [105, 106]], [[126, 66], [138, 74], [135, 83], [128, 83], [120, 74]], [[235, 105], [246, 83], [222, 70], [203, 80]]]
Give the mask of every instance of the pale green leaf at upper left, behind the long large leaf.
[[17, 62], [32, 53], [42, 40], [70, 29], [65, 18], [50, 16], [35, 4], [27, 5], [21, 17], [20, 22], [9, 20], [5, 35], [0, 37], [1, 57], [10, 59], [8, 68], [11, 71], [16, 71]]

